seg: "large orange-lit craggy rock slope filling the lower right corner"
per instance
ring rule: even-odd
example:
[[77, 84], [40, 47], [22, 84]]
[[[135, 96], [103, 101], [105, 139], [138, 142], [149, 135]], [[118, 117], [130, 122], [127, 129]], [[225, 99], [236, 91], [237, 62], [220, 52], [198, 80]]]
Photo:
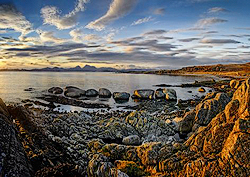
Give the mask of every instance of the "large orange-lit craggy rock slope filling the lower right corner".
[[200, 127], [178, 151], [160, 162], [168, 176], [249, 176], [250, 79], [206, 127]]

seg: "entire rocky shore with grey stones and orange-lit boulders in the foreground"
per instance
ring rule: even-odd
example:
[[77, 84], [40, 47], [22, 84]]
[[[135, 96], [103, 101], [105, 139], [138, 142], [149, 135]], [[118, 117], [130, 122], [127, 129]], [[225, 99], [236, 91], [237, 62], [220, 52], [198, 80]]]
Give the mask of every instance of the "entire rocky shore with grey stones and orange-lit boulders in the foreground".
[[0, 176], [249, 176], [250, 79], [194, 84], [213, 92], [137, 90], [134, 111], [53, 111], [76, 97], [128, 97], [105, 89], [51, 88], [50, 110], [0, 100]]

